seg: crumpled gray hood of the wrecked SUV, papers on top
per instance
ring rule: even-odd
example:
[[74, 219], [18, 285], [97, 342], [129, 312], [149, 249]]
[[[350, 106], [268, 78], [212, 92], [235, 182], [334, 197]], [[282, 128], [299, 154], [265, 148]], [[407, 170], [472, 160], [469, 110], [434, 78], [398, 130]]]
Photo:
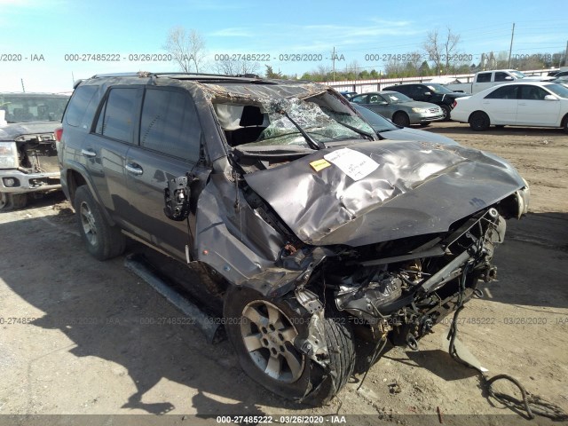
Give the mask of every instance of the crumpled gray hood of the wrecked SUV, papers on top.
[[[384, 140], [347, 146], [365, 157], [344, 149], [316, 151], [245, 179], [300, 240], [351, 246], [446, 232], [525, 186], [509, 163], [463, 146]], [[343, 170], [359, 180], [336, 159], [324, 159], [343, 153]]]

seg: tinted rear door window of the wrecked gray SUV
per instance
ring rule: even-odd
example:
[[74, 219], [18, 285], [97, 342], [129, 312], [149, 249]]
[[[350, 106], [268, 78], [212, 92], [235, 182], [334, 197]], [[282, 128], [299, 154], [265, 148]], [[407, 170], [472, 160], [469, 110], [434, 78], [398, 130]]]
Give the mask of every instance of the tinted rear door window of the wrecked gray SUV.
[[95, 132], [107, 138], [131, 143], [136, 119], [134, 108], [137, 106], [137, 94], [136, 87], [111, 89], [100, 111]]

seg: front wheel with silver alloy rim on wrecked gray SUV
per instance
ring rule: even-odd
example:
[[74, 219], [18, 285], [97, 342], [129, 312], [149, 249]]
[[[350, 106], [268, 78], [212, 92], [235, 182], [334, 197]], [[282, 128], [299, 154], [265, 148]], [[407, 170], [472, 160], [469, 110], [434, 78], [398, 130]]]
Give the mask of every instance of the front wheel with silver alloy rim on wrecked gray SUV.
[[[330, 356], [330, 371], [326, 373], [293, 345], [297, 335], [307, 332], [310, 319], [294, 296], [272, 300], [250, 288], [231, 287], [225, 295], [224, 315], [225, 330], [242, 369], [281, 397], [320, 406], [351, 376], [355, 346], [351, 327], [342, 317], [325, 319]], [[272, 368], [277, 367], [268, 372], [271, 360]]]

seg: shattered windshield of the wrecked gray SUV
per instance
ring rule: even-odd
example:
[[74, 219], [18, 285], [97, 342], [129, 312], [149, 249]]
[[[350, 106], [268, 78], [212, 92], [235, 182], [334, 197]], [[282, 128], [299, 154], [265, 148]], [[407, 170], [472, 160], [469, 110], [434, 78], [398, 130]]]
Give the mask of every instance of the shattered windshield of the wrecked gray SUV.
[[[262, 130], [255, 142], [240, 147], [294, 145], [310, 147], [294, 122], [310, 138], [324, 145], [333, 141], [365, 138], [364, 135], [346, 126], [368, 133], [373, 132], [369, 125], [356, 115], [337, 112], [327, 106], [319, 106], [316, 102], [297, 98], [267, 99], [262, 102], [262, 106], [264, 113], [268, 114], [268, 126]], [[288, 116], [283, 114], [284, 112]]]

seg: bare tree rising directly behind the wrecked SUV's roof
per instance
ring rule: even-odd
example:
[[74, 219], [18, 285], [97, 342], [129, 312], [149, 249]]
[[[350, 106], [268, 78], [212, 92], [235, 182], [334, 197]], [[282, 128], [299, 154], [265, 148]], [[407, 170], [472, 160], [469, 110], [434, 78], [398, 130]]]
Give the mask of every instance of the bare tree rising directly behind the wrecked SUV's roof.
[[205, 42], [194, 29], [186, 31], [183, 27], [170, 28], [163, 48], [169, 51], [174, 61], [185, 73], [202, 71], [205, 62]]

